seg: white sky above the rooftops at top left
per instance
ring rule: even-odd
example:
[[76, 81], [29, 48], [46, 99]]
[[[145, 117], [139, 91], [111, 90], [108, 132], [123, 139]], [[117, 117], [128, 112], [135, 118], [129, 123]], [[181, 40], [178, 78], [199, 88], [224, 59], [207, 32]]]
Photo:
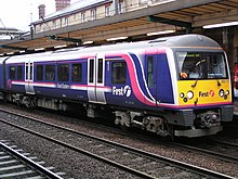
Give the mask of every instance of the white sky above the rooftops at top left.
[[[71, 0], [71, 4], [78, 0]], [[55, 0], [0, 0], [0, 18], [5, 27], [29, 30], [29, 24], [39, 20], [38, 7], [45, 4], [45, 15], [55, 12]], [[0, 27], [3, 27], [0, 22]]]

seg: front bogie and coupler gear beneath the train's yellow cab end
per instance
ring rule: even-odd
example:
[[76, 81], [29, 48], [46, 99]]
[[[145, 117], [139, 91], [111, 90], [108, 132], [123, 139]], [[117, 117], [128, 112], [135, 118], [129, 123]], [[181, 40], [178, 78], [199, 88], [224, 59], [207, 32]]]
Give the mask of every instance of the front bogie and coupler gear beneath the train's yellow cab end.
[[115, 124], [125, 127], [140, 127], [162, 137], [194, 138], [222, 131], [223, 113], [228, 113], [230, 108], [225, 111], [221, 108], [190, 110], [189, 115], [188, 111], [163, 111], [159, 114], [116, 111]]

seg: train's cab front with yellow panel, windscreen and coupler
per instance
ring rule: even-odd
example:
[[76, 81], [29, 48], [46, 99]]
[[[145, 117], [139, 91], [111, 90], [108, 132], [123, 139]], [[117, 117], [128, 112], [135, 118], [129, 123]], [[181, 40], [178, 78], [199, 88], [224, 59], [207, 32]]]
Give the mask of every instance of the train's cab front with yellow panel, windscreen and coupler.
[[187, 130], [175, 136], [215, 135], [233, 119], [232, 85], [224, 52], [176, 52], [177, 103]]

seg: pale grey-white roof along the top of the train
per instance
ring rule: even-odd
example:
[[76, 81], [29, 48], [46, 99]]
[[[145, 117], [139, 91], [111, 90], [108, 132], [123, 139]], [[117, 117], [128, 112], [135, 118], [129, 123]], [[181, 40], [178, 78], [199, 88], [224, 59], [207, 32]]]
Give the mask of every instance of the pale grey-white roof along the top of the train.
[[[74, 60], [80, 56], [95, 56], [97, 53], [109, 53], [109, 52], [133, 52], [145, 50], [145, 48], [202, 48], [202, 49], [220, 49], [220, 44], [201, 35], [183, 35], [173, 36], [166, 38], [158, 38], [150, 41], [140, 42], [127, 42], [118, 44], [107, 44], [97, 47], [80, 47], [74, 49], [64, 49], [53, 52], [34, 53], [25, 55], [11, 56], [6, 63], [25, 63], [25, 62], [47, 62], [47, 61], [62, 61], [62, 60]], [[3, 61], [3, 60], [2, 60]], [[1, 59], [0, 59], [1, 63]]]

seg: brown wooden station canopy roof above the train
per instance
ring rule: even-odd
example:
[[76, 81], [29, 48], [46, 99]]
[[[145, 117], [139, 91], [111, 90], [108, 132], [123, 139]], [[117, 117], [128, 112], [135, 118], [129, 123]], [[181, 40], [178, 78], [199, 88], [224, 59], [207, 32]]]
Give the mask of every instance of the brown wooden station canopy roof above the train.
[[[0, 54], [80, 43], [79, 37], [89, 35], [93, 35], [94, 39], [100, 41], [105, 40], [106, 37], [117, 37], [118, 34], [129, 34], [129, 29], [133, 31], [131, 36], [146, 36], [146, 30], [155, 23], [200, 28], [203, 25], [237, 21], [237, 17], [238, 0], [175, 0], [34, 36], [25, 36], [24, 39], [1, 41]], [[146, 26], [147, 29], [141, 29], [142, 26]]]

